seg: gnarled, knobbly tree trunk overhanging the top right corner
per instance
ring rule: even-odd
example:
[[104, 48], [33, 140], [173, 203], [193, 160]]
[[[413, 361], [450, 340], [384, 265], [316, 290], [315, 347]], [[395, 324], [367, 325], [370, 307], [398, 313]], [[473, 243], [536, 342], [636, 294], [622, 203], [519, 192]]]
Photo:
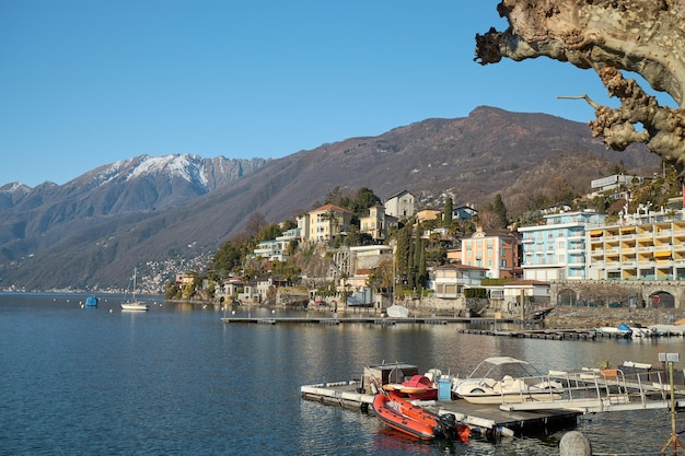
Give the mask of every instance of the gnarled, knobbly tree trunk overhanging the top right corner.
[[[510, 26], [476, 35], [476, 61], [545, 56], [594, 69], [620, 107], [579, 96], [595, 108], [592, 133], [616, 151], [646, 143], [683, 173], [685, 0], [503, 0], [498, 11]], [[620, 70], [642, 75], [652, 89], [669, 93], [678, 108], [661, 106]]]

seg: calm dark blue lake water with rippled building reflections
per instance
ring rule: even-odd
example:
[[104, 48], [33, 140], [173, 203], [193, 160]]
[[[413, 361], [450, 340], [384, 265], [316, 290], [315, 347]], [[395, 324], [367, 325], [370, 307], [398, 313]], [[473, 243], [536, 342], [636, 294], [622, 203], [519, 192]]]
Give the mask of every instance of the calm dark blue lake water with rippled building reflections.
[[[85, 297], [0, 294], [1, 455], [558, 455], [568, 430], [418, 443], [375, 417], [303, 400], [299, 388], [359, 378], [382, 361], [465, 375], [498, 354], [543, 372], [603, 359], [658, 364], [660, 352], [685, 359], [682, 338], [553, 341], [463, 335], [460, 325], [222, 324], [223, 312], [211, 306], [156, 297], [150, 312], [125, 313], [117, 296], [82, 308]], [[671, 418], [666, 410], [590, 414], [574, 429], [595, 453], [657, 454]], [[680, 417], [677, 429], [685, 429]]]

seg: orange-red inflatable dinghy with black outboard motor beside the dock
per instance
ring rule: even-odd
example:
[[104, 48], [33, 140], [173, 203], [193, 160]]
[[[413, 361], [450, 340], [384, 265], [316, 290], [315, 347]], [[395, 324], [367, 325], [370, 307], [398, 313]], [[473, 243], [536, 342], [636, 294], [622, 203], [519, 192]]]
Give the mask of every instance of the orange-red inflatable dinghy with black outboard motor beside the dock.
[[375, 395], [373, 411], [387, 426], [419, 440], [468, 440], [471, 432], [468, 426], [457, 425], [454, 414], [433, 413], [394, 394]]

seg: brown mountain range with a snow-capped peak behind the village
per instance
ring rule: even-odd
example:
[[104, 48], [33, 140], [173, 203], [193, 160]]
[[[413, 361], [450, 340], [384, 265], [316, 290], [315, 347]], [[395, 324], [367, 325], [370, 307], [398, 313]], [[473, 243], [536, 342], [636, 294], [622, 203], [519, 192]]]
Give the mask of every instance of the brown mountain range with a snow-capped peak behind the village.
[[121, 289], [138, 268], [148, 291], [202, 270], [256, 212], [279, 222], [336, 187], [383, 200], [411, 191], [423, 206], [500, 194], [512, 213], [564, 187], [588, 191], [616, 169], [651, 175], [642, 147], [607, 151], [587, 125], [481, 106], [467, 117], [426, 119], [282, 159], [141, 155], [65, 184], [0, 187], [0, 289]]

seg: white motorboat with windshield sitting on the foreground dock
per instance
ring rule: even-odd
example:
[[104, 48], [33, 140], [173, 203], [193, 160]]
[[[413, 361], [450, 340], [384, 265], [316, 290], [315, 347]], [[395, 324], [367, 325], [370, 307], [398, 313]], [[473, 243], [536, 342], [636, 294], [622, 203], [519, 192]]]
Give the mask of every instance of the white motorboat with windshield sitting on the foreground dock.
[[472, 404], [519, 404], [561, 399], [562, 385], [542, 375], [529, 362], [511, 356], [483, 360], [453, 391]]

